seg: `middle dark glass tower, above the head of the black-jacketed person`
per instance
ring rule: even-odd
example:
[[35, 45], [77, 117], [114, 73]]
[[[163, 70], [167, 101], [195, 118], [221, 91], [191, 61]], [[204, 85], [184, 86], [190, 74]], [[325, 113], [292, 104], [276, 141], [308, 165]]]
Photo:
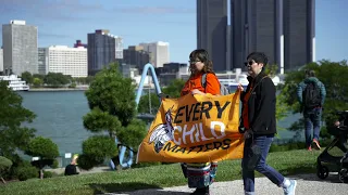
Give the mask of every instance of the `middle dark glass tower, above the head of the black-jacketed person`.
[[249, 53], [262, 51], [269, 57], [269, 63], [277, 63], [279, 52], [279, 12], [277, 0], [232, 0], [232, 51], [233, 64], [243, 68]]

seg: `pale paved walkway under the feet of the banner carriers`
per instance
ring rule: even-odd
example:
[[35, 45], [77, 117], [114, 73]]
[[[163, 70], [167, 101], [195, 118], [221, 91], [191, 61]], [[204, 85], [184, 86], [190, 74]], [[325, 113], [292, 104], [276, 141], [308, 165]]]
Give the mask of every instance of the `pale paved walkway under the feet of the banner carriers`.
[[[320, 180], [315, 174], [301, 174], [290, 177], [297, 179], [296, 195], [348, 195], [348, 184], [340, 183], [338, 176], [330, 176], [326, 180]], [[120, 195], [188, 195], [194, 190], [187, 186], [167, 187], [161, 190], [141, 190]], [[116, 194], [116, 193], [114, 193]], [[211, 187], [211, 195], [243, 195], [243, 181], [215, 182]], [[283, 190], [275, 186], [266, 178], [256, 179], [257, 195], [282, 195]]]

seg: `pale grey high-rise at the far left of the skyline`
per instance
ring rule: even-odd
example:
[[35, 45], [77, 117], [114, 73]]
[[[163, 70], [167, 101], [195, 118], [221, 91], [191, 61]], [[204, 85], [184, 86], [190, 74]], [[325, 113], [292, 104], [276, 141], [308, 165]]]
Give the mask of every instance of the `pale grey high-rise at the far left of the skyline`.
[[25, 21], [2, 25], [4, 74], [38, 73], [37, 27]]

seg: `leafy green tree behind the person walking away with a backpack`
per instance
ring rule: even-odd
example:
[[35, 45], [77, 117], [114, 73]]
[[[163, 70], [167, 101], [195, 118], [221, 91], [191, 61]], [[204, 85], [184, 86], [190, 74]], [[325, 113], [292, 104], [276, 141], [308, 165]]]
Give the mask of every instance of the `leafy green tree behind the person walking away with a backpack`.
[[[348, 109], [348, 79], [343, 75], [348, 74], [348, 66], [346, 61], [330, 62], [320, 61], [319, 63], [310, 63], [301, 67], [299, 72], [289, 72], [286, 75], [285, 83], [282, 87], [282, 103], [287, 107], [288, 112], [296, 114], [300, 113], [300, 104], [297, 99], [297, 86], [304, 79], [304, 70], [311, 69], [315, 72], [319, 78], [326, 88], [326, 98], [323, 110], [323, 121], [327, 127], [336, 118], [335, 112]], [[303, 129], [303, 119], [294, 122], [289, 130], [300, 132]], [[325, 133], [326, 128], [323, 128]]]

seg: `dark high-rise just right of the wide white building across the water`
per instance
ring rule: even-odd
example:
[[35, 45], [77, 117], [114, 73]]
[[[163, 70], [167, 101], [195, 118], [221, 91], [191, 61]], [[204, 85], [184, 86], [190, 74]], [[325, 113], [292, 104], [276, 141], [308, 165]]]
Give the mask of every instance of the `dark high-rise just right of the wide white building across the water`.
[[115, 37], [109, 30], [88, 34], [88, 75], [96, 75], [110, 63], [115, 62]]

